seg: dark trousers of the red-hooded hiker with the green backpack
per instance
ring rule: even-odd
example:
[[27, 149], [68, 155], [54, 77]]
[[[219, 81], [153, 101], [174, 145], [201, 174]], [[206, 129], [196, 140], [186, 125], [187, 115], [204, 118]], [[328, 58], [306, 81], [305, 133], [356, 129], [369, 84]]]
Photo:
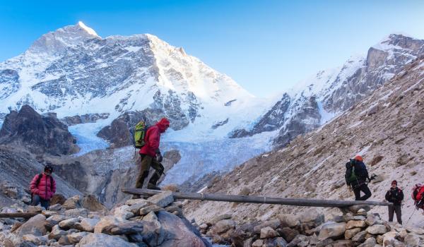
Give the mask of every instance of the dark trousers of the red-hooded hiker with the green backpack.
[[163, 174], [163, 165], [158, 162], [156, 157], [151, 157], [148, 155], [140, 155], [141, 156], [141, 170], [140, 174], [136, 180], [136, 188], [143, 188], [144, 179], [148, 176], [148, 170], [150, 167], [155, 169], [155, 174], [148, 181], [147, 188], [153, 188], [158, 183], [160, 176]]

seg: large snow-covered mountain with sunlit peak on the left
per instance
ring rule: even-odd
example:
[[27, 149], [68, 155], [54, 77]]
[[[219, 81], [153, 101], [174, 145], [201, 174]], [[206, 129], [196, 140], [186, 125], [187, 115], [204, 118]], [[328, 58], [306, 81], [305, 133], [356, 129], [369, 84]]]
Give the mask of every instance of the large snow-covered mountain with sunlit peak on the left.
[[218, 114], [216, 121], [252, 114], [242, 108], [257, 102], [225, 74], [154, 35], [103, 39], [81, 22], [42, 35], [1, 63], [0, 78], [3, 114], [29, 104], [59, 118], [108, 113], [112, 121], [150, 107], [178, 120], [172, 126], [178, 130], [206, 113]]

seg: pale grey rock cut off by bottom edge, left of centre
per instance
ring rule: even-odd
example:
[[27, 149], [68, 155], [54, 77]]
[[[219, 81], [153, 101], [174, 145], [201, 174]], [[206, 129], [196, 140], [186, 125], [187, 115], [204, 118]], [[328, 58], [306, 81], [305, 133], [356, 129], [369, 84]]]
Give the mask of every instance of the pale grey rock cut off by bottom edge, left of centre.
[[76, 247], [137, 247], [136, 243], [129, 243], [118, 236], [107, 234], [88, 234], [79, 241]]

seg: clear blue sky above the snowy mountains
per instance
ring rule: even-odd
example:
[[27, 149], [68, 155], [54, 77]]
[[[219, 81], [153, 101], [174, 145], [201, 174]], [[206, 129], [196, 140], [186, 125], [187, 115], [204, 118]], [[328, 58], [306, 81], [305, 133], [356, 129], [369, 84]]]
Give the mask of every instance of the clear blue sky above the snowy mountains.
[[418, 0], [0, 0], [0, 61], [78, 20], [102, 37], [157, 35], [258, 96], [365, 54], [389, 33], [424, 39]]

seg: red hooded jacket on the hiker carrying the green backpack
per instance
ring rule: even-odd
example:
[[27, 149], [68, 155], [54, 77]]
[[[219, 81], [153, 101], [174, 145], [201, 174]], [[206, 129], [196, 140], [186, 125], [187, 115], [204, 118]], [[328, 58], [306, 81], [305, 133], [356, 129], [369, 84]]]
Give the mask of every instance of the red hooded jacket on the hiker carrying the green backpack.
[[148, 128], [146, 131], [146, 136], [144, 137], [146, 145], [141, 147], [140, 153], [142, 155], [155, 157], [156, 150], [159, 150], [160, 133], [165, 133], [169, 126], [170, 121], [168, 121], [166, 118], [163, 118], [160, 119], [160, 121], [158, 121], [158, 123], [156, 123], [154, 126]]

